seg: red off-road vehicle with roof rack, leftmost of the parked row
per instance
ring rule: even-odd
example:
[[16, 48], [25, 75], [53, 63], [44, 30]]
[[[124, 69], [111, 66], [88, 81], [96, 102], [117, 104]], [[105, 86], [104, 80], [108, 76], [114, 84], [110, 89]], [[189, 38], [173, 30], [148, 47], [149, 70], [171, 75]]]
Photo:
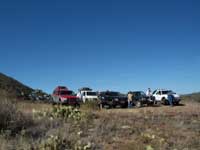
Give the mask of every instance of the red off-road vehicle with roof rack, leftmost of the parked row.
[[65, 86], [57, 86], [52, 94], [53, 103], [79, 106], [78, 97]]

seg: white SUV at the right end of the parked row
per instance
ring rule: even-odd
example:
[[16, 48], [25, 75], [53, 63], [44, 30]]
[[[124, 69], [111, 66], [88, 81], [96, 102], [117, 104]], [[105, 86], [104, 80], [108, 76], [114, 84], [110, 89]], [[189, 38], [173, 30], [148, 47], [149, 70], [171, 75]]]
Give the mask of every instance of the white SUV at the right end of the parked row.
[[154, 97], [156, 102], [161, 102], [164, 105], [169, 104], [168, 101], [169, 96], [173, 96], [173, 104], [175, 105], [178, 105], [179, 102], [181, 101], [180, 95], [176, 94], [172, 90], [158, 89], [152, 93], [152, 96]]

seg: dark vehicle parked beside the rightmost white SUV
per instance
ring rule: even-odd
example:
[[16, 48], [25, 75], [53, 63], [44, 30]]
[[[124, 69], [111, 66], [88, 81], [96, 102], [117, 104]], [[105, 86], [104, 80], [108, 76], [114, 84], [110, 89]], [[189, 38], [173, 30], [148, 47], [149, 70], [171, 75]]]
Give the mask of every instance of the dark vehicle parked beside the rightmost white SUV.
[[133, 95], [132, 97], [132, 104], [136, 107], [142, 107], [143, 105], [153, 105], [154, 100], [150, 99], [150, 97], [146, 96], [143, 91], [134, 91], [131, 92]]

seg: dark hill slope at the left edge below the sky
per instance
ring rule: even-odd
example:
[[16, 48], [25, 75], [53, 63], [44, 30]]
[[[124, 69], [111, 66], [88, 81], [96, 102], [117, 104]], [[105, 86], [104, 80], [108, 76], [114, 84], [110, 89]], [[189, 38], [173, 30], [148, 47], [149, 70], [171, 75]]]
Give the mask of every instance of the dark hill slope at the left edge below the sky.
[[32, 88], [22, 84], [21, 82], [0, 73], [0, 93], [9, 96], [17, 97], [21, 95], [28, 95], [33, 91]]

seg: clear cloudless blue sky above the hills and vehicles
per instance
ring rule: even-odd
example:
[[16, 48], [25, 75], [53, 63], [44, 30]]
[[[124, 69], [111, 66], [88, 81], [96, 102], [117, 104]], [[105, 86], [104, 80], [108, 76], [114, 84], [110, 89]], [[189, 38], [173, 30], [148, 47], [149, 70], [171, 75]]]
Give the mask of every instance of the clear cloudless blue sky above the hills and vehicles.
[[0, 1], [0, 56], [0, 72], [48, 93], [200, 91], [200, 1]]

